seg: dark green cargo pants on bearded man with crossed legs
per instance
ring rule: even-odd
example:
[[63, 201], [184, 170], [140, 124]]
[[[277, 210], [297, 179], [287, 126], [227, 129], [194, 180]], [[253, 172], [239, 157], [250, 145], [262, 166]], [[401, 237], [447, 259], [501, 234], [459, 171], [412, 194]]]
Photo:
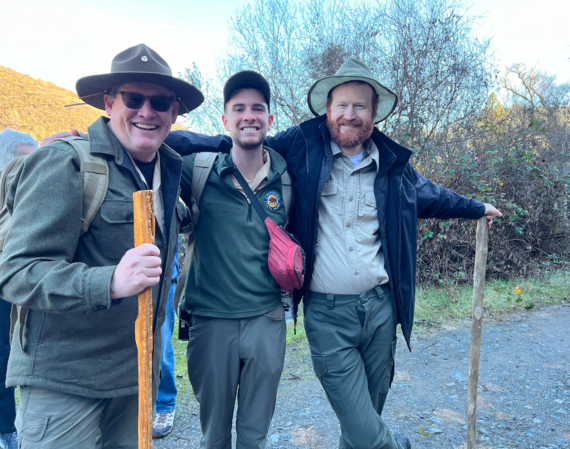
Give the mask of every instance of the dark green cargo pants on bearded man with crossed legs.
[[396, 353], [389, 286], [361, 295], [308, 296], [305, 330], [315, 374], [340, 421], [339, 448], [403, 449], [380, 416]]

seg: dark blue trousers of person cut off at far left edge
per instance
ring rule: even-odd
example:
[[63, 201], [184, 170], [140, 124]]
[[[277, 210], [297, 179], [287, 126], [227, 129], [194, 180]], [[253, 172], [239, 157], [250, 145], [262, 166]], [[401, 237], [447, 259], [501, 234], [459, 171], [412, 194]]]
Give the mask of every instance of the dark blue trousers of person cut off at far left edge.
[[14, 387], [6, 388], [6, 371], [10, 357], [10, 310], [12, 304], [0, 299], [0, 433], [16, 431]]

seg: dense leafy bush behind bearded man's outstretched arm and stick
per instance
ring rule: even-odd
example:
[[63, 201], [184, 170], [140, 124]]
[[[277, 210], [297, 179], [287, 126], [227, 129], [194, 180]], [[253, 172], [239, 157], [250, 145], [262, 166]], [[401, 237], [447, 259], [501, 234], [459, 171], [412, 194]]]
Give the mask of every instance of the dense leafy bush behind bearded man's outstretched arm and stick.
[[[504, 108], [492, 96], [477, 123], [447, 130], [414, 161], [437, 184], [494, 204], [503, 213], [489, 238], [488, 277], [528, 276], [569, 260], [568, 114], [564, 109]], [[472, 222], [421, 221], [420, 283], [470, 282], [474, 255]]]

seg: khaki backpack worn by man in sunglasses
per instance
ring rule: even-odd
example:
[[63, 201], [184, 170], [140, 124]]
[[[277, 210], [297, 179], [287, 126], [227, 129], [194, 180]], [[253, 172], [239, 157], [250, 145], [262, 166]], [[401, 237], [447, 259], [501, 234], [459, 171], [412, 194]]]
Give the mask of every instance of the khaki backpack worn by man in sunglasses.
[[[83, 137], [63, 137], [61, 139], [56, 139], [56, 141], [61, 140], [68, 143], [79, 155], [79, 160], [81, 163], [80, 171], [81, 178], [83, 179], [83, 213], [81, 214], [81, 231], [80, 235], [83, 235], [89, 229], [89, 225], [97, 215], [101, 204], [105, 200], [107, 195], [107, 189], [109, 188], [109, 165], [107, 160], [102, 156], [96, 156], [91, 153], [91, 146], [89, 141]], [[20, 161], [18, 165], [21, 165], [23, 161]], [[8, 168], [8, 166], [6, 167]], [[12, 169], [14, 169], [12, 167]], [[6, 184], [7, 173], [2, 170], [0, 174], [0, 213], [8, 214], [5, 206], [6, 201], [6, 191], [8, 186]], [[8, 218], [8, 217], [5, 217]], [[9, 219], [8, 219], [9, 220]], [[9, 230], [9, 221], [7, 221], [7, 226], [2, 226], [0, 229], [0, 255], [4, 248], [4, 241]], [[26, 316], [28, 315], [28, 307], [12, 305], [12, 310], [10, 312], [10, 342], [12, 341], [12, 336], [14, 334], [14, 328], [16, 327], [16, 322], [20, 323], [20, 332], [18, 335], [20, 341], [20, 347], [22, 352], [24, 352], [23, 346], [23, 332], [24, 323], [26, 321]]]

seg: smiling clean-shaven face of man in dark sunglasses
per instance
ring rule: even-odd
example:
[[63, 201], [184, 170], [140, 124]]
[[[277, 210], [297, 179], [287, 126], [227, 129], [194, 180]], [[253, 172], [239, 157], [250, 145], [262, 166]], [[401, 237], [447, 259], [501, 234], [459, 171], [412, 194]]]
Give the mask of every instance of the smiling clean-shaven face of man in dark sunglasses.
[[119, 91], [138, 92], [145, 96], [173, 96], [170, 89], [150, 83], [126, 83], [115, 89], [113, 98], [105, 95], [105, 110], [111, 117], [111, 126], [119, 142], [132, 157], [143, 162], [154, 159], [155, 153], [170, 132], [178, 116], [178, 102], [172, 103], [168, 111], [152, 109], [150, 100], [145, 99], [140, 109], [130, 109], [123, 103]]

